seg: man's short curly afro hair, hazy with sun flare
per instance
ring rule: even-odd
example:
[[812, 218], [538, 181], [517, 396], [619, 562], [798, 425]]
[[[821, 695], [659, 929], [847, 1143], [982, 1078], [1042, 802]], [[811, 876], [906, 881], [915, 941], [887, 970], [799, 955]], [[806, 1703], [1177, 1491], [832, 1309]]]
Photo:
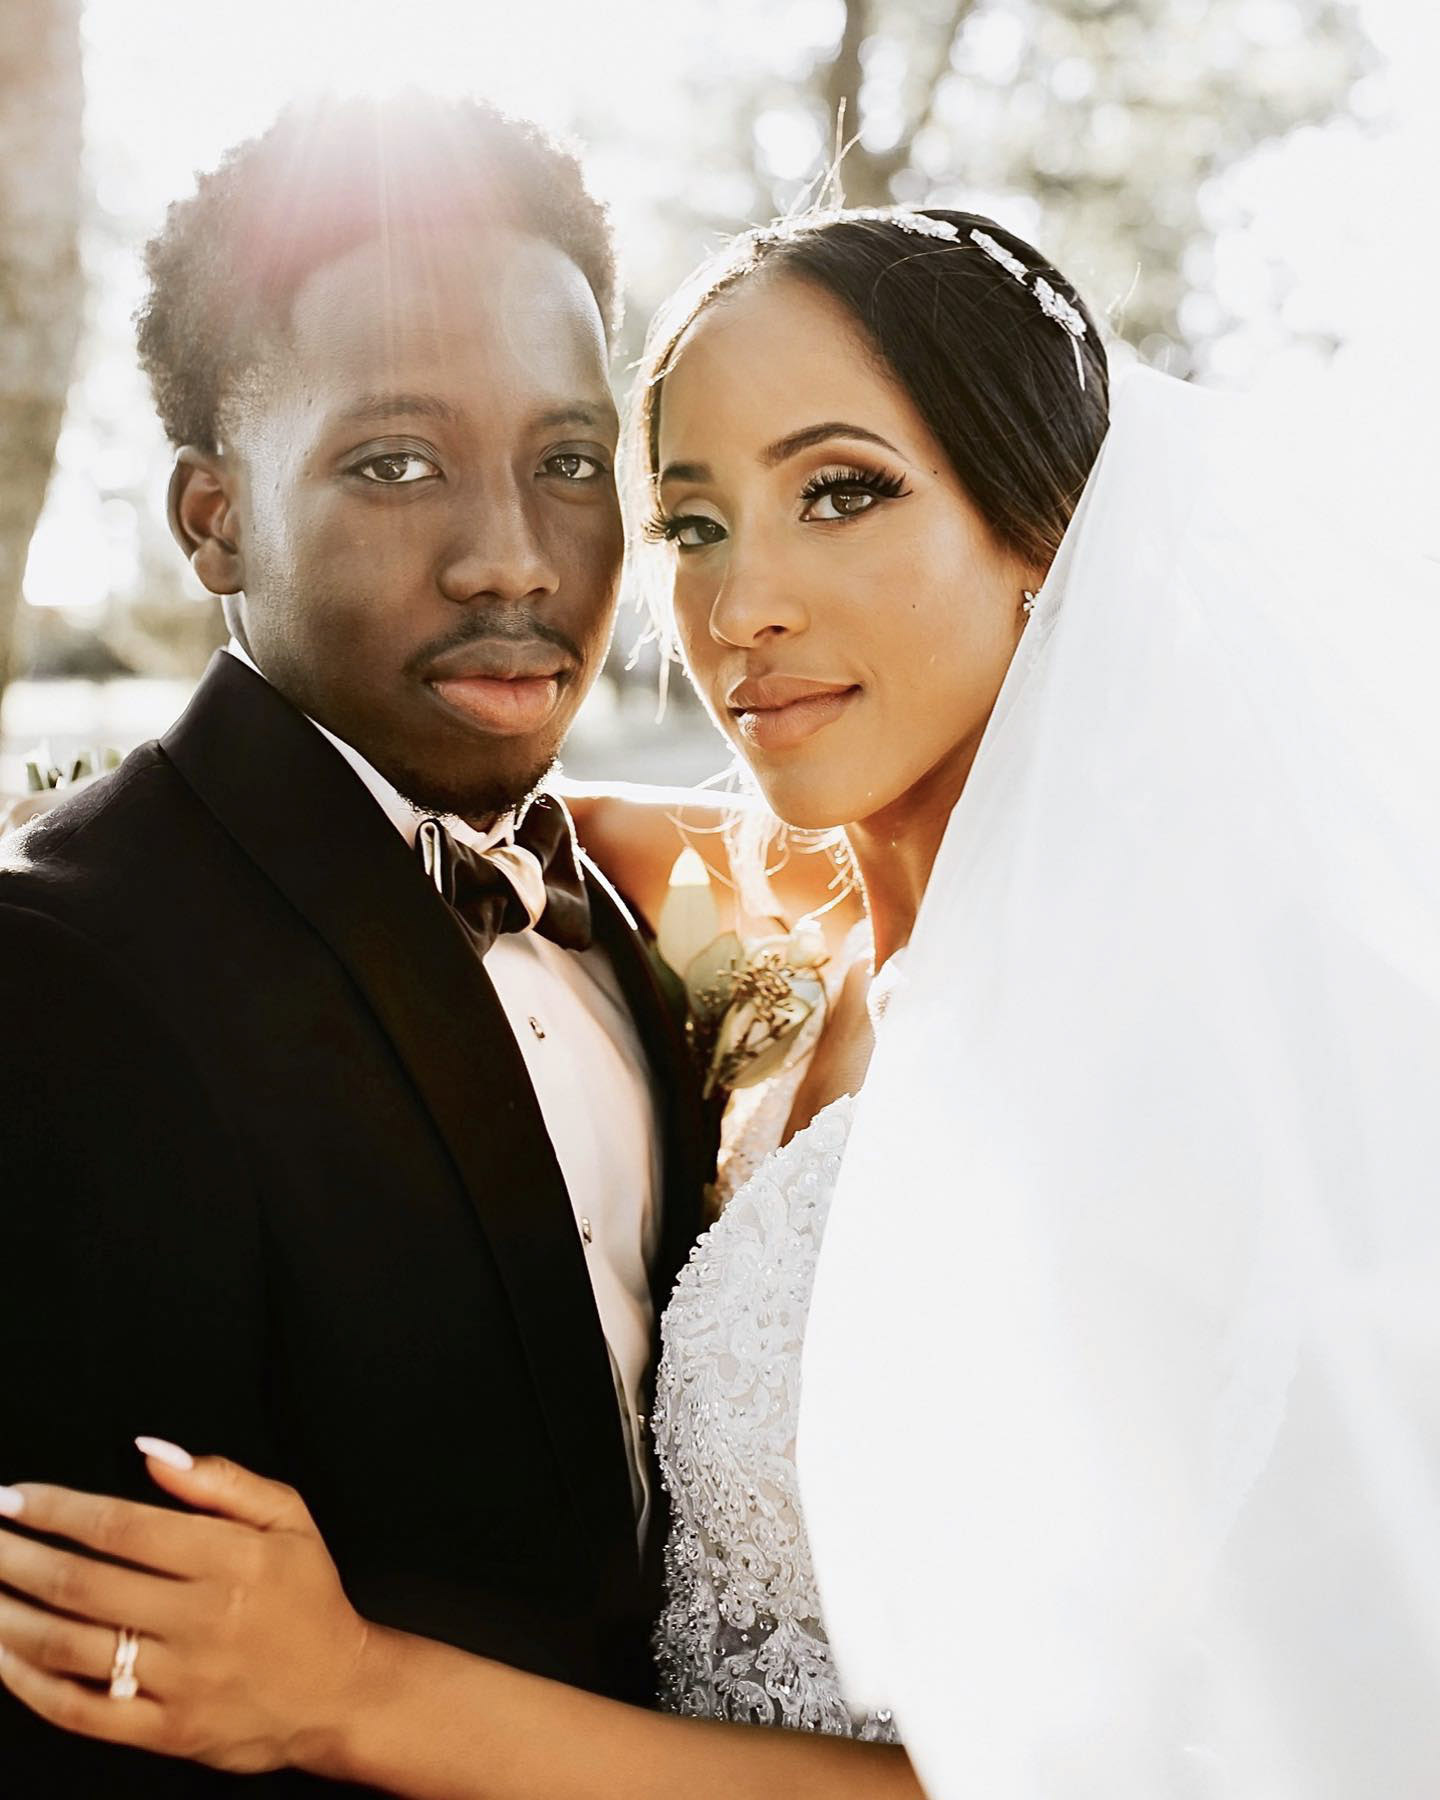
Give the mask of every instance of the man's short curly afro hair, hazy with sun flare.
[[607, 209], [572, 151], [481, 101], [292, 106], [176, 200], [146, 245], [140, 365], [175, 445], [220, 448], [234, 383], [283, 340], [302, 283], [382, 234], [518, 229], [580, 268], [617, 324]]

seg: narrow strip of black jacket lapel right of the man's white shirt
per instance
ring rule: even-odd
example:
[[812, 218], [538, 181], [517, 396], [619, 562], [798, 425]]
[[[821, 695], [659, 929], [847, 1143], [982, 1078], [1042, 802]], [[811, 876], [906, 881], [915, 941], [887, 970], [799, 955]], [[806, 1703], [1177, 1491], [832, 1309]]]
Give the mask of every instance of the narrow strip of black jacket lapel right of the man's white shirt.
[[700, 1233], [702, 1197], [715, 1179], [718, 1112], [700, 1102], [700, 1080], [677, 1017], [661, 988], [652, 950], [625, 900], [581, 855], [596, 943], [610, 958], [635, 1019], [661, 1098], [664, 1183], [661, 1233], [652, 1269], [655, 1316], [670, 1303], [675, 1276]]

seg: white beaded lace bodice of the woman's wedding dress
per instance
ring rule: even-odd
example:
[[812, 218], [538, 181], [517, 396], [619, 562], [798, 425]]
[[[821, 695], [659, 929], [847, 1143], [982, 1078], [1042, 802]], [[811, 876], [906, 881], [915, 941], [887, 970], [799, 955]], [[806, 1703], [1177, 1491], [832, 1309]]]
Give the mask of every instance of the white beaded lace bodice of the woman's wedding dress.
[[695, 1717], [895, 1742], [887, 1712], [851, 1710], [841, 1694], [799, 1512], [801, 1343], [855, 1107], [833, 1102], [776, 1148], [801, 1073], [803, 1064], [733, 1102], [725, 1206], [664, 1314], [655, 1449], [671, 1528], [655, 1634], [661, 1699]]

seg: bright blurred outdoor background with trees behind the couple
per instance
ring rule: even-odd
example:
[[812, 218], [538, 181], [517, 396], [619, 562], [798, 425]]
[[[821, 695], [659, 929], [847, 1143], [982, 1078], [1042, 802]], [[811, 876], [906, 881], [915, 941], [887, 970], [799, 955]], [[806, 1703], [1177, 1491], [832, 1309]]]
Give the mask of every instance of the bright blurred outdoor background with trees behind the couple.
[[[851, 203], [994, 212], [1141, 360], [1339, 421], [1355, 506], [1435, 551], [1438, 63], [1429, 0], [4, 0], [0, 790], [41, 742], [63, 765], [162, 731], [220, 641], [130, 317], [166, 203], [284, 101], [477, 92], [578, 139], [621, 234], [619, 389], [668, 288], [817, 176], [844, 101]], [[684, 695], [655, 724], [639, 635], [567, 769], [711, 774]]]

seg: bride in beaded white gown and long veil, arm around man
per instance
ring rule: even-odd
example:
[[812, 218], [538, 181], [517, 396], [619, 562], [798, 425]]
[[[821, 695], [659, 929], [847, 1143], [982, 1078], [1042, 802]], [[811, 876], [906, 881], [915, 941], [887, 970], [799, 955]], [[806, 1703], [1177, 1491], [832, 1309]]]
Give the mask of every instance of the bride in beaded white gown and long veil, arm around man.
[[[1289, 1784], [1280, 1746], [1292, 1719], [1280, 1703], [1265, 1714], [1264, 1656], [1301, 1643], [1292, 1589], [1309, 1557], [1265, 1589], [1289, 1607], [1289, 1634], [1256, 1627], [1242, 1645], [1255, 1687], [1217, 1687], [1228, 1726], [1246, 1696], [1255, 1703], [1224, 1742], [1264, 1742], [1271, 1786], [1246, 1786], [1249, 1764], [1233, 1789], [1206, 1787], [1206, 1721], [1175, 1710], [1159, 1678], [1147, 1685], [1152, 1663], [1165, 1676], [1193, 1665], [1210, 1546], [1228, 1537], [1285, 1411], [1303, 1305], [1231, 1305], [1233, 1292], [1296, 1298], [1287, 1255], [1310, 1190], [1276, 1159], [1346, 1157], [1327, 1179], [1354, 1208], [1384, 1165], [1370, 1147], [1393, 1125], [1386, 1177], [1426, 1170], [1436, 1186], [1440, 1145], [1424, 1163], [1433, 1129], [1375, 1093], [1384, 1033], [1373, 1021], [1350, 1033], [1366, 970], [1330, 954], [1328, 938], [1316, 950], [1321, 913], [1343, 913], [1373, 954], [1370, 979], [1384, 968], [1404, 988], [1375, 1008], [1409, 1058], [1399, 1093], [1440, 1075], [1427, 1035], [1435, 914], [1413, 905], [1440, 893], [1415, 830], [1440, 785], [1433, 734], [1404, 738], [1391, 720], [1377, 749], [1357, 727], [1343, 754], [1310, 736], [1318, 720], [1368, 725], [1386, 711], [1361, 653], [1379, 632], [1341, 634], [1327, 661], [1334, 619], [1318, 603], [1296, 648], [1292, 592], [1314, 581], [1328, 601], [1336, 571], [1291, 540], [1294, 567], [1237, 623], [1260, 569], [1240, 545], [1256, 533], [1228, 536], [1204, 495], [1217, 470], [1229, 490], [1240, 470], [1269, 479], [1269, 452], [1145, 374], [1121, 387], [1105, 443], [1094, 320], [1030, 245], [972, 214], [841, 212], [742, 238], [657, 320], [637, 392], [632, 473], [653, 508], [644, 536], [670, 558], [689, 677], [772, 814], [844, 832], [868, 918], [866, 941], [832, 961], [823, 1030], [747, 1096], [743, 1120], [733, 1107], [724, 1211], [664, 1319], [655, 1444], [673, 1525], [657, 1652], [666, 1706], [686, 1717], [369, 1625], [297, 1494], [153, 1440], [155, 1481], [193, 1512], [0, 1490], [23, 1525], [81, 1552], [0, 1535], [0, 1586], [14, 1595], [0, 1597], [0, 1679], [70, 1730], [418, 1800], [913, 1796], [916, 1768], [931, 1793], [992, 1800], [1418, 1793], [1404, 1773], [1422, 1759], [1393, 1753], [1397, 1737], [1413, 1750], [1415, 1732], [1390, 1746], [1357, 1737], [1384, 1777], [1373, 1787]], [[1127, 511], [1152, 499], [1145, 517]], [[1217, 544], [1229, 558], [1219, 587]], [[1206, 612], [1215, 594], [1229, 612]], [[1418, 648], [1435, 639], [1411, 599], [1391, 596], [1417, 652], [1390, 689], [1395, 720], [1415, 716]], [[1264, 684], [1292, 648], [1294, 675], [1260, 729], [1256, 695], [1264, 713]], [[1346, 655], [1352, 686], [1327, 688]], [[1323, 797], [1301, 781], [1303, 819], [1287, 832], [1271, 810], [1276, 770], [1305, 767]], [[1377, 770], [1397, 783], [1375, 787]], [[655, 918], [680, 848], [671, 810], [587, 799], [576, 815]], [[1366, 828], [1328, 844], [1336, 821]], [[1312, 855], [1287, 862], [1300, 842]], [[1147, 873], [1147, 851], [1163, 878]], [[1348, 887], [1346, 857], [1352, 877], [1364, 871]], [[754, 871], [736, 859], [743, 884]], [[1256, 868], [1265, 886], [1246, 889]], [[1296, 911], [1298, 895], [1316, 911]], [[1161, 904], [1174, 911], [1148, 911]], [[1125, 943], [1134, 967], [1116, 954]], [[1238, 954], [1256, 943], [1258, 961]], [[1103, 961], [1085, 965], [1100, 945]], [[994, 972], [1008, 985], [997, 990]], [[1332, 977], [1314, 1003], [1309, 985]], [[1271, 1028], [1276, 1006], [1312, 1026], [1323, 1080], [1283, 1062], [1292, 1039]], [[1049, 1039], [1026, 1037], [1057, 1021]], [[1116, 1105], [1121, 1084], [1132, 1118]], [[1370, 1136], [1336, 1123], [1346, 1094]], [[1210, 1109], [1208, 1136], [1192, 1136], [1195, 1107]], [[1283, 1129], [1260, 1129], [1267, 1107]], [[1075, 1220], [1040, 1217], [1031, 1188], [1062, 1208], [1071, 1154]], [[1256, 1186], [1249, 1157], [1271, 1159], [1269, 1184]], [[1246, 1199], [1260, 1188], [1276, 1206], [1256, 1224]], [[967, 1192], [979, 1204], [963, 1204]], [[821, 1260], [832, 1197], [837, 1237]], [[1129, 1244], [1105, 1235], [1118, 1224]], [[1363, 1217], [1350, 1229], [1363, 1238]], [[1355, 1255], [1379, 1267], [1397, 1244]], [[1073, 1258], [1073, 1289], [1046, 1285], [1057, 1256]], [[1177, 1267], [1188, 1285], [1147, 1287]], [[1411, 1334], [1406, 1354], [1422, 1339]], [[1336, 1366], [1352, 1348], [1337, 1339]], [[1174, 1373], [1184, 1355], [1193, 1366]], [[1224, 1381], [1211, 1382], [1211, 1363]], [[1355, 1350], [1352, 1372], [1361, 1363]], [[1211, 1386], [1224, 1404], [1211, 1406]], [[1337, 1377], [1310, 1399], [1341, 1388]], [[1355, 1476], [1345, 1433], [1319, 1426], [1303, 1467], [1314, 1472], [1327, 1445]], [[1404, 1503], [1427, 1494], [1422, 1478], [1406, 1485], [1409, 1447], [1404, 1431], [1368, 1445]], [[376, 1481], [403, 1480], [398, 1445]], [[1384, 1507], [1364, 1514], [1337, 1496], [1327, 1539], [1296, 1510], [1301, 1496], [1292, 1472], [1280, 1489], [1289, 1510], [1271, 1496], [1264, 1543], [1328, 1541], [1375, 1573], [1384, 1661], [1400, 1642], [1395, 1597], [1413, 1591], [1402, 1575], [1427, 1559], [1366, 1559], [1346, 1526], [1373, 1528]], [[1247, 1555], [1242, 1573], [1264, 1562], [1255, 1543]], [[1364, 1681], [1366, 1593], [1339, 1589], [1361, 1618], [1346, 1667]], [[1321, 1593], [1327, 1624], [1328, 1604]], [[1417, 1609], [1420, 1625], [1436, 1616], [1433, 1600]], [[139, 1634], [128, 1703], [94, 1687], [121, 1627]], [[1321, 1661], [1319, 1687], [1289, 1694], [1307, 1721], [1341, 1667]], [[1402, 1697], [1426, 1672], [1420, 1629]], [[1154, 1715], [1127, 1719], [1129, 1701]], [[1127, 1732], [1143, 1753], [1114, 1750]]]

